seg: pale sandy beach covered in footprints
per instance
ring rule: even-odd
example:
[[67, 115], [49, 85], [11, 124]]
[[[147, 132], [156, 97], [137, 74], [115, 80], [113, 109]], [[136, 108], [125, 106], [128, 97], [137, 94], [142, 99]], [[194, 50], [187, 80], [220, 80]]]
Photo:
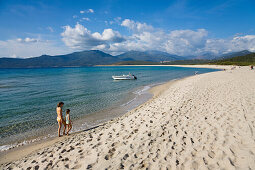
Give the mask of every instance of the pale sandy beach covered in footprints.
[[156, 86], [122, 117], [2, 154], [0, 169], [255, 169], [255, 71], [201, 67], [227, 70]]

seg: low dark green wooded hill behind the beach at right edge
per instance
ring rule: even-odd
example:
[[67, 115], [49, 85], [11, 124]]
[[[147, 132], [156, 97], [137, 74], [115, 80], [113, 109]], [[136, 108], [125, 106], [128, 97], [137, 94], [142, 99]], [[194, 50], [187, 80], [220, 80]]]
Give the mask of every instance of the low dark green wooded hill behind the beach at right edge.
[[211, 62], [210, 64], [239, 65], [239, 66], [255, 65], [255, 53], [247, 54], [244, 56], [221, 59]]

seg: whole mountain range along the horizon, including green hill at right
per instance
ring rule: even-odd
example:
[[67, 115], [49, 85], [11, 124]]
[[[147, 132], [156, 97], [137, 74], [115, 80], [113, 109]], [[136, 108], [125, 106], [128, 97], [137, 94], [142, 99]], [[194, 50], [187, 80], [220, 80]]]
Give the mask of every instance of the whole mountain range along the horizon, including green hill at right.
[[[185, 57], [172, 55], [161, 51], [129, 51], [112, 56], [99, 50], [74, 52], [66, 55], [49, 56], [42, 55], [34, 58], [0, 58], [0, 68], [41, 68], [41, 67], [80, 67], [93, 65], [150, 65], [160, 64], [205, 64], [222, 63], [249, 65], [254, 63], [254, 53], [247, 50], [224, 54], [217, 59], [186, 59]], [[209, 53], [206, 55], [210, 55]], [[238, 56], [235, 58], [235, 56]], [[243, 58], [241, 56], [244, 56]], [[234, 58], [233, 58], [234, 57]], [[228, 60], [229, 59], [229, 60]], [[237, 64], [237, 65], [238, 65]]]

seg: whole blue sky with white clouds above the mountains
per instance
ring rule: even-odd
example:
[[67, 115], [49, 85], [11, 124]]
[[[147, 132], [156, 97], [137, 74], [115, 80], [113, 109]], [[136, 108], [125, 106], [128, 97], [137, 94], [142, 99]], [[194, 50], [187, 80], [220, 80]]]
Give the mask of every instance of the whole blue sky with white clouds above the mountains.
[[255, 52], [255, 0], [0, 0], [0, 57]]

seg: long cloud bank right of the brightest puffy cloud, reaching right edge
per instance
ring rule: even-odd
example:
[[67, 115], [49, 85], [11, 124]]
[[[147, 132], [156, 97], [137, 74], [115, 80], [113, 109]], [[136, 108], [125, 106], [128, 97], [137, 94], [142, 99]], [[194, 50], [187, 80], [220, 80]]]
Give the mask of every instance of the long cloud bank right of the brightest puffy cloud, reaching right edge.
[[255, 51], [255, 35], [235, 36], [230, 39], [210, 39], [208, 31], [173, 30], [165, 32], [146, 23], [130, 19], [122, 21], [121, 26], [133, 33], [122, 44], [111, 44], [110, 51], [161, 50], [177, 55], [200, 55], [205, 52], [222, 54], [226, 52]]

